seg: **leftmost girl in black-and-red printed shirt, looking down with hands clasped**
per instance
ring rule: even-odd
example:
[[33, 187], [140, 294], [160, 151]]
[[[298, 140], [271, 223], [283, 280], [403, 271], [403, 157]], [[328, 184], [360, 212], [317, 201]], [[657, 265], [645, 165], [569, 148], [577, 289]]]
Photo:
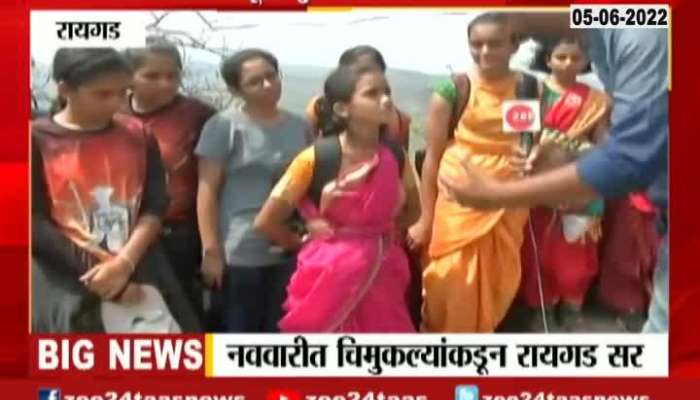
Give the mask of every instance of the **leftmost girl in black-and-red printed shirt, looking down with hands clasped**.
[[[128, 63], [111, 48], [62, 48], [53, 78], [58, 110], [32, 124], [33, 330], [108, 330], [105, 303], [143, 305], [152, 288], [182, 330], [198, 330], [153, 246], [168, 206], [158, 147], [139, 121], [114, 115]], [[137, 331], [152, 317], [119, 326]]]

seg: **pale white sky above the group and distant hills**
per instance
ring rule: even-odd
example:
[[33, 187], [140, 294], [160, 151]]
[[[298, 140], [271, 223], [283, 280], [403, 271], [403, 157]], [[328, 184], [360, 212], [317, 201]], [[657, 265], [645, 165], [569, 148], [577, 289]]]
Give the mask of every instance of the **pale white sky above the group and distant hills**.
[[[158, 27], [185, 32], [209, 46], [225, 46], [231, 51], [262, 47], [275, 54], [282, 65], [332, 67], [344, 49], [369, 44], [382, 52], [389, 68], [445, 74], [449, 71], [447, 65], [454, 70], [465, 70], [471, 65], [466, 27], [478, 12], [450, 13], [430, 9], [306, 13], [202, 11], [205, 22], [194, 11], [182, 11], [169, 12]], [[31, 53], [36, 60], [50, 64], [57, 45], [43, 39], [55, 36], [55, 27], [42, 21], [41, 17], [48, 14], [38, 13], [32, 13]], [[97, 13], [86, 13], [94, 14]], [[115, 15], [114, 12], [109, 14]], [[148, 23], [155, 20], [154, 14], [163, 12], [121, 14], [124, 18]], [[521, 46], [513, 65], [527, 65], [533, 49], [532, 43]], [[217, 56], [206, 52], [190, 52], [190, 56], [219, 61]]]

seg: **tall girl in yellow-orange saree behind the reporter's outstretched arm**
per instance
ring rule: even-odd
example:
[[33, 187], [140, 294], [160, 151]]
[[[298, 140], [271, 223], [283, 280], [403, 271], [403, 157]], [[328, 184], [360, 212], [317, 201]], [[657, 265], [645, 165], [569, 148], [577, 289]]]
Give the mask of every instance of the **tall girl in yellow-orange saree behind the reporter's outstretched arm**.
[[409, 241], [430, 239], [423, 272], [423, 326], [427, 332], [492, 332], [520, 285], [520, 246], [527, 209], [475, 210], [438, 191], [437, 176], [461, 176], [460, 162], [471, 161], [498, 179], [514, 179], [511, 168], [517, 136], [502, 131], [501, 106], [515, 99], [519, 80], [509, 69], [517, 49], [508, 19], [487, 13], [468, 27], [476, 69], [469, 74], [467, 106], [449, 138], [457, 88], [438, 86], [430, 104], [428, 147], [423, 164], [423, 212]]

